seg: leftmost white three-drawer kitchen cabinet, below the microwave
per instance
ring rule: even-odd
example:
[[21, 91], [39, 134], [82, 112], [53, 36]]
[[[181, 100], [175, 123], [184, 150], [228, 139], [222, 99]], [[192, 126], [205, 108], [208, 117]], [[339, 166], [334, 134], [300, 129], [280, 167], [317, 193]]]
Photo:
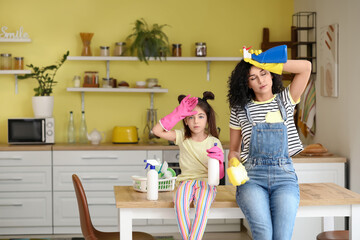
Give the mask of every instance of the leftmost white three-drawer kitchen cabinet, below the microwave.
[[52, 233], [51, 151], [0, 151], [0, 235]]

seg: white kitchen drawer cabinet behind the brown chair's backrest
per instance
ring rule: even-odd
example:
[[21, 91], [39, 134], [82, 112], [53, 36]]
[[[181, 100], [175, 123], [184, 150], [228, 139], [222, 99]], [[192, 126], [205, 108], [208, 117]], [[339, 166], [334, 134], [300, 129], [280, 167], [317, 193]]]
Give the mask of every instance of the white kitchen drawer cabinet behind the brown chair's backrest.
[[144, 175], [147, 155], [145, 150], [53, 151], [54, 234], [81, 233], [72, 174], [81, 179], [94, 226], [102, 231], [117, 231], [113, 187], [132, 185], [132, 175]]

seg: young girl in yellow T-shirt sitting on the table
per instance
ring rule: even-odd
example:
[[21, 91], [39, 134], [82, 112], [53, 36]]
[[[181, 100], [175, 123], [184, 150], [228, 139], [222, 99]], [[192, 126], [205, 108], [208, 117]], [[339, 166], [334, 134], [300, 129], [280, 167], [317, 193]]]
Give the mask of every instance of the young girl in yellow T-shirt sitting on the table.
[[[219, 160], [220, 178], [224, 176], [223, 149], [215, 123], [215, 112], [207, 102], [214, 99], [212, 92], [203, 98], [180, 95], [180, 105], [157, 123], [153, 132], [166, 140], [175, 141], [180, 149], [181, 174], [177, 177], [174, 203], [178, 226], [184, 240], [202, 239], [207, 214], [216, 196], [216, 186], [207, 183], [209, 157]], [[183, 130], [171, 130], [183, 120]], [[217, 143], [217, 146], [214, 144]], [[195, 218], [190, 222], [190, 203], [194, 201]]]

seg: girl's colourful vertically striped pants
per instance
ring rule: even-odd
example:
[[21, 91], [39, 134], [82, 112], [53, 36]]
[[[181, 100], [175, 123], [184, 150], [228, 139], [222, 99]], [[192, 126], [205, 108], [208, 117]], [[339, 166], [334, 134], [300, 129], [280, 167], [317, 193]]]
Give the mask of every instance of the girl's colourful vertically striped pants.
[[[183, 240], [200, 240], [205, 232], [207, 215], [216, 196], [216, 186], [205, 181], [190, 180], [180, 183], [175, 194], [175, 211]], [[195, 218], [190, 223], [190, 203], [194, 201]]]

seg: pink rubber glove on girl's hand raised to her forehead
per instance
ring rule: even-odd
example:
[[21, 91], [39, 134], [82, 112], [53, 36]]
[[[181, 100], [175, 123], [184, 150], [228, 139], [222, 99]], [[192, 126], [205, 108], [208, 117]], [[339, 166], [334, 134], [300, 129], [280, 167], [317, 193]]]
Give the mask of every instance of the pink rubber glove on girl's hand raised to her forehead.
[[179, 121], [183, 120], [187, 116], [197, 114], [196, 111], [193, 111], [197, 103], [197, 97], [190, 97], [190, 95], [187, 95], [172, 113], [160, 119], [159, 122], [162, 128], [165, 131], [170, 131]]

